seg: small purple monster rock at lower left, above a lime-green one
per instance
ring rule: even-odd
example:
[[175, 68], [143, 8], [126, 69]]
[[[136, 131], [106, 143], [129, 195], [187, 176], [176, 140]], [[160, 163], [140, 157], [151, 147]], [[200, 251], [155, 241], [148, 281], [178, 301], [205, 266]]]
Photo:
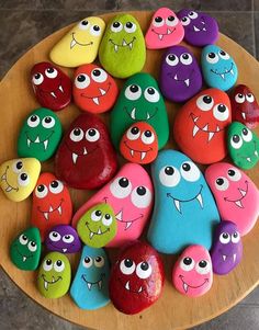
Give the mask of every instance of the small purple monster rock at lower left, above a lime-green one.
[[77, 231], [68, 225], [57, 225], [48, 232], [45, 244], [49, 251], [76, 253], [81, 250]]

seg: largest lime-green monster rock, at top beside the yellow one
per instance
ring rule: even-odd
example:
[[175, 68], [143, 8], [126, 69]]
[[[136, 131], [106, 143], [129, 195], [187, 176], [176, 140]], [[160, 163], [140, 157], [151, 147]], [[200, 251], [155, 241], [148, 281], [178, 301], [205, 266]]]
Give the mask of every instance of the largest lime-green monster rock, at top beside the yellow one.
[[109, 22], [99, 48], [99, 60], [116, 78], [127, 78], [143, 69], [146, 45], [142, 27], [133, 15], [119, 14]]

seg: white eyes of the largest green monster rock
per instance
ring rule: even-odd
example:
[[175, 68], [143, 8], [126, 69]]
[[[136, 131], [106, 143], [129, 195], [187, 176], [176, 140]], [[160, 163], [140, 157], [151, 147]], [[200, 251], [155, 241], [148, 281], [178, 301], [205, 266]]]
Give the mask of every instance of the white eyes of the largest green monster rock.
[[[130, 84], [124, 94], [127, 100], [136, 101], [142, 96], [142, 88], [138, 84]], [[144, 90], [144, 98], [147, 102], [156, 103], [160, 100], [160, 94], [154, 87], [147, 87]]]

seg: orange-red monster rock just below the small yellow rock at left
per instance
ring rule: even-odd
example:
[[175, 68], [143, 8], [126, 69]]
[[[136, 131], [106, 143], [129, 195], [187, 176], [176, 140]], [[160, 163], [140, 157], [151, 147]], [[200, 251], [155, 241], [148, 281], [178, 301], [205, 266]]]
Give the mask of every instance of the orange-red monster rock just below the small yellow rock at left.
[[67, 186], [52, 173], [42, 173], [33, 192], [31, 223], [44, 241], [52, 227], [69, 225], [72, 202]]

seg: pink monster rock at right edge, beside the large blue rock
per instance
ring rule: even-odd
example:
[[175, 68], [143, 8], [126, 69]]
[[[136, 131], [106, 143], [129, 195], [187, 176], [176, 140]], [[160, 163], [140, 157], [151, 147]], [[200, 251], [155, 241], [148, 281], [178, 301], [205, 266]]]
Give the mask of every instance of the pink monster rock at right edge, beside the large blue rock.
[[227, 162], [210, 166], [205, 178], [222, 219], [235, 223], [241, 236], [248, 234], [259, 216], [259, 191], [251, 179]]

